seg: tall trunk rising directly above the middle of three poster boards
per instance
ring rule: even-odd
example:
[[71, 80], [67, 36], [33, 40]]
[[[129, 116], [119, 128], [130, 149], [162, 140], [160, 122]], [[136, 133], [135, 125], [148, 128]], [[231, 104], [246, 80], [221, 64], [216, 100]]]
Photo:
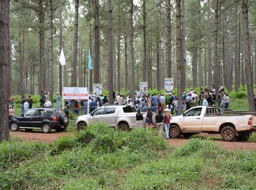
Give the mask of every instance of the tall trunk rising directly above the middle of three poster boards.
[[143, 82], [147, 80], [147, 24], [146, 0], [143, 0]]

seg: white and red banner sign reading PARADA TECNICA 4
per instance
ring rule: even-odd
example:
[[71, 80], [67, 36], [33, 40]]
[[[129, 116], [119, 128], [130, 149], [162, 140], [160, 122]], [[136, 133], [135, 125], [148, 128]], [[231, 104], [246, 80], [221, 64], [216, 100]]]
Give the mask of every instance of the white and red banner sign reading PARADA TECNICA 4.
[[87, 100], [88, 88], [84, 87], [63, 87], [63, 99], [66, 100]]

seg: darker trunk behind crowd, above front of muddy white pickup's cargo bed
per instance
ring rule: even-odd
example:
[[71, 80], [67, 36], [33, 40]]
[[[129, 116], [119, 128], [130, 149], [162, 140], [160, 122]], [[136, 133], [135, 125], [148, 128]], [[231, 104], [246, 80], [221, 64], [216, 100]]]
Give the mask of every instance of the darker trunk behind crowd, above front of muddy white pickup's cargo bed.
[[215, 0], [215, 26], [214, 26], [214, 84], [220, 83], [220, 65], [218, 62], [218, 0]]

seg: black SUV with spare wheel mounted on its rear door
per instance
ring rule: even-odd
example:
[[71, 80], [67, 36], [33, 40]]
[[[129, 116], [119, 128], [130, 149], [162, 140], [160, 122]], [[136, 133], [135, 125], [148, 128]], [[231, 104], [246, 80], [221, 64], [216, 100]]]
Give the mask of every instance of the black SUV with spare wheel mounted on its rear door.
[[9, 119], [9, 127], [12, 131], [25, 129], [42, 129], [44, 133], [50, 133], [52, 129], [57, 132], [64, 131], [68, 126], [68, 116], [63, 110], [56, 108], [36, 108]]

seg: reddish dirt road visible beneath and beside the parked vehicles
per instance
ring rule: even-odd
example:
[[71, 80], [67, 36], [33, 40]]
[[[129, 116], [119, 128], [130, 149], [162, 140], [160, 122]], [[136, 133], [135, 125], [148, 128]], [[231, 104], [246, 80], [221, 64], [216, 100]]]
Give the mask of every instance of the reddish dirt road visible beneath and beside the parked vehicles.
[[[55, 132], [43, 133], [42, 131], [33, 130], [31, 132], [26, 132], [25, 130], [19, 130], [16, 132], [10, 132], [13, 137], [21, 137], [27, 141], [41, 141], [41, 142], [53, 142], [59, 137], [74, 134], [75, 132]], [[174, 147], [180, 147], [181, 145], [187, 143], [189, 139], [186, 138], [169, 138], [167, 139], [170, 145]], [[256, 150], [256, 142], [227, 142], [221, 140], [213, 140], [214, 143], [219, 144], [221, 147], [226, 149], [245, 149], [245, 150]]]

